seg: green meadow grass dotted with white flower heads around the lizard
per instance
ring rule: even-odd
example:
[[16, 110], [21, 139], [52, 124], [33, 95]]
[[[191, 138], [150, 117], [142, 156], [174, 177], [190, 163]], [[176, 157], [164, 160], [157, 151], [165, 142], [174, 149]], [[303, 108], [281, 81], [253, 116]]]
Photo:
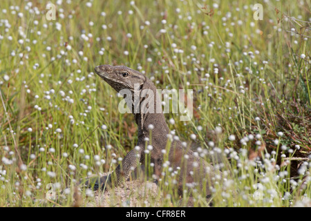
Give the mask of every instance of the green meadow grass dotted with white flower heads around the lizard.
[[[88, 206], [102, 195], [96, 206], [179, 205], [171, 176], [108, 193], [75, 187], [112, 171], [138, 140], [133, 116], [94, 75], [100, 64], [194, 90], [191, 121], [165, 116], [203, 157], [225, 155], [214, 206], [311, 206], [311, 3], [267, 1], [263, 21], [254, 3], [63, 1], [47, 21], [45, 3], [1, 1], [0, 206]], [[207, 206], [200, 190], [194, 198]]]

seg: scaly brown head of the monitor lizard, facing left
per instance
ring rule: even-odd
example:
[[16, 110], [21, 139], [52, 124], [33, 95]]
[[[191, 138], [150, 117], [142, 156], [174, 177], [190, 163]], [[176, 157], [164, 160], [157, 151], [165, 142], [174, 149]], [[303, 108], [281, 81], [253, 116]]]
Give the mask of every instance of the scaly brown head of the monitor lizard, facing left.
[[95, 73], [106, 81], [117, 92], [122, 89], [134, 90], [134, 84], [142, 86], [146, 77], [137, 70], [126, 66], [101, 65], [94, 68]]

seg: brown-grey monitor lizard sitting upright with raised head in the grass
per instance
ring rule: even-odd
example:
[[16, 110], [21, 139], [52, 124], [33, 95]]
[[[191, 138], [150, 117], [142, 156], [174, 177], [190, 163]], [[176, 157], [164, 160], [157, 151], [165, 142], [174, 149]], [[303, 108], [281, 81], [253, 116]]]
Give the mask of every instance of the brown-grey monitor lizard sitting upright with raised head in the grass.
[[[140, 95], [139, 104], [151, 99], [150, 96], [144, 93], [144, 89], [148, 89], [149, 91], [152, 91], [154, 95], [158, 96], [156, 86], [154, 86], [153, 82], [137, 70], [132, 70], [126, 66], [102, 65], [95, 68], [95, 73], [104, 79], [104, 81], [106, 81], [111, 87], [117, 90], [117, 92], [120, 92], [122, 89], [131, 90], [131, 99], [133, 99], [134, 102], [135, 92], [136, 95], [138, 93]], [[134, 84], [139, 85], [139, 90], [135, 90]], [[135, 113], [135, 108], [132, 107], [135, 122], [138, 124], [137, 146], [139, 146], [139, 148], [131, 150], [111, 175], [101, 177], [100, 180], [95, 182], [95, 184], [93, 183], [94, 189], [103, 189], [106, 184], [108, 186], [120, 185], [129, 177], [131, 171], [133, 171], [138, 165], [138, 162], [144, 165], [144, 150], [149, 144], [152, 146], [150, 154], [151, 162], [154, 164], [153, 173], [156, 177], [160, 177], [165, 153], [162, 150], [167, 148], [169, 127], [165, 122], [163, 113], [156, 113], [157, 105], [161, 105], [161, 102], [157, 101], [157, 97], [153, 99], [154, 113], [144, 113], [141, 106], [139, 106], [139, 113]], [[151, 124], [153, 125], [153, 129], [152, 135], [149, 137], [149, 125]], [[187, 155], [187, 159], [185, 155]], [[184, 157], [185, 159], [182, 160]], [[204, 188], [206, 195], [211, 195], [209, 187], [213, 183], [213, 179], [211, 178], [214, 177], [213, 166], [202, 160], [200, 157], [195, 156], [193, 151], [182, 147], [182, 143], [176, 139], [172, 140], [171, 146], [169, 147], [168, 160], [169, 166], [171, 166], [173, 171], [180, 170], [177, 179], [179, 195], [182, 195], [182, 192], [185, 189], [193, 189], [194, 187], [200, 189]]]

